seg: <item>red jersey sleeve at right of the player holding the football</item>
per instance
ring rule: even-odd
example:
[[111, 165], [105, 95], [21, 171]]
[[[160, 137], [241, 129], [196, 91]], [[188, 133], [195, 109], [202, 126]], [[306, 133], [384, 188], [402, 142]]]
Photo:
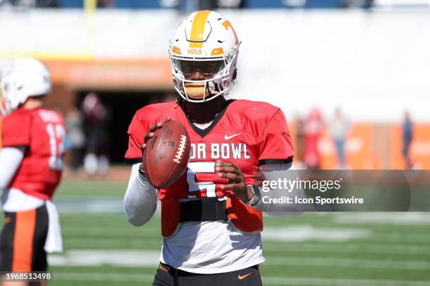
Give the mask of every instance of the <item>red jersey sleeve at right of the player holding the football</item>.
[[266, 125], [260, 142], [259, 165], [292, 163], [294, 150], [287, 121], [280, 109]]

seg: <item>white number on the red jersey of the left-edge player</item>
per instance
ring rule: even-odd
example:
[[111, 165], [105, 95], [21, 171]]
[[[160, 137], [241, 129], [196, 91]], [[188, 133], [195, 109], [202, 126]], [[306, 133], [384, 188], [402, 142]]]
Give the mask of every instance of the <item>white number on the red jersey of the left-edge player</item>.
[[46, 132], [49, 135], [49, 147], [51, 156], [49, 157], [49, 168], [52, 170], [63, 170], [63, 154], [65, 151], [65, 130], [61, 124], [48, 123]]

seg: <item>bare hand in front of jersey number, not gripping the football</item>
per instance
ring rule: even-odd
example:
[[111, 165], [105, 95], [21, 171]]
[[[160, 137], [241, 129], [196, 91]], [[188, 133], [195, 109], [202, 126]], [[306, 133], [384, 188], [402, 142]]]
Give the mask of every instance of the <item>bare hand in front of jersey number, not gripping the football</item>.
[[247, 187], [245, 176], [237, 165], [217, 160], [215, 163], [215, 172], [218, 173], [218, 177], [228, 179], [227, 184], [221, 185], [221, 189], [233, 191], [235, 196], [244, 203], [252, 199], [254, 196], [252, 189]]

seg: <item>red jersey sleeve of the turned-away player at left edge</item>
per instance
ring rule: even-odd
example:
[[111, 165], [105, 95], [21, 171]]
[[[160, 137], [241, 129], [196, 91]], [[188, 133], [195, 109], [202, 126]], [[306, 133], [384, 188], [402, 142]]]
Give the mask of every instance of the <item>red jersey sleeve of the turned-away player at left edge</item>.
[[2, 146], [30, 146], [30, 130], [30, 114], [10, 114], [4, 117], [1, 126]]

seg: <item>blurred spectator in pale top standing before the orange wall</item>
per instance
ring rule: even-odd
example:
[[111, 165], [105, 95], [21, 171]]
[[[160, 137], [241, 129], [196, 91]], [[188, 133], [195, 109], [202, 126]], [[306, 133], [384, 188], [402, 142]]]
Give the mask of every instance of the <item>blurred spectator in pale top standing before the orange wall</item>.
[[349, 122], [342, 113], [341, 109], [334, 110], [334, 116], [329, 126], [330, 134], [336, 145], [337, 158], [339, 159], [339, 168], [345, 168], [345, 141], [348, 135]]

